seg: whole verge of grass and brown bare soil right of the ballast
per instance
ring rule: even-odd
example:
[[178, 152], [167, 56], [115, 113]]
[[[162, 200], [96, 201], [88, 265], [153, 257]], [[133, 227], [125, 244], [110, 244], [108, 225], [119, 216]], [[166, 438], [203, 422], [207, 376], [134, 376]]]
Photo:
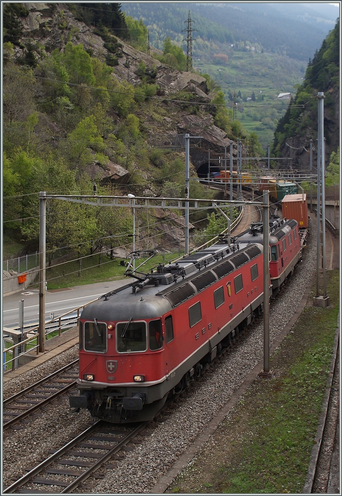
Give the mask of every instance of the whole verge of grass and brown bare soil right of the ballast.
[[339, 311], [339, 271], [327, 272], [329, 308], [312, 295], [271, 360], [174, 481], [170, 493], [301, 493], [321, 414]]

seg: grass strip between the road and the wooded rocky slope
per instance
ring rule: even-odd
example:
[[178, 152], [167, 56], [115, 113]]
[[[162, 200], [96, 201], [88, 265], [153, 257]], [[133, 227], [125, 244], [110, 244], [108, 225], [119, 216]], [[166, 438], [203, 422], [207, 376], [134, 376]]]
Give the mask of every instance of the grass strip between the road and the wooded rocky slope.
[[[164, 258], [162, 255], [156, 255], [143, 265], [140, 270], [142, 272], [149, 272], [149, 270], [158, 263], [167, 263], [168, 260], [173, 260], [177, 257], [178, 252], [167, 253]], [[136, 267], [142, 260], [144, 259], [139, 258], [136, 260]], [[80, 276], [78, 276], [78, 261], [76, 260], [47, 268], [46, 280], [48, 283], [48, 290], [53, 290], [123, 279], [125, 270], [126, 267], [120, 265], [120, 260], [111, 260], [104, 255], [102, 255], [101, 264], [99, 265], [99, 254], [97, 253], [82, 260]], [[38, 288], [38, 284], [33, 284], [29, 288]]]

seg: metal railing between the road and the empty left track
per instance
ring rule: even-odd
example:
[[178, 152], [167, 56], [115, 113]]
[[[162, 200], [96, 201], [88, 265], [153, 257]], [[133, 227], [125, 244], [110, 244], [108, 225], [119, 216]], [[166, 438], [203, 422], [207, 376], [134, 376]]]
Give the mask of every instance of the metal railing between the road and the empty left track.
[[[58, 325], [55, 326], [53, 329], [49, 330], [48, 332], [46, 332], [45, 337], [48, 336], [49, 334], [51, 334], [52, 332], [55, 332], [57, 329], [58, 329], [58, 335], [60, 336], [63, 328], [69, 327], [70, 324], [77, 322], [77, 320], [79, 319], [80, 310], [84, 309], [84, 307], [86, 307], [90, 303], [95, 302], [96, 300], [92, 300], [91, 302], [85, 303], [84, 305], [76, 307], [73, 310], [69, 310], [68, 312], [63, 313], [62, 315], [58, 315], [56, 317], [53, 317], [51, 320], [48, 320], [46, 322], [46, 325], [49, 325], [49, 324], [51, 324], [53, 322], [57, 322], [57, 321], [58, 321]], [[68, 319], [67, 323], [62, 324], [63, 317], [66, 317], [67, 315], [72, 314], [72, 313], [76, 313], [76, 312], [77, 312], [77, 317], [72, 318], [71, 320]], [[14, 343], [13, 346], [10, 346], [9, 348], [3, 348], [2, 353], [3, 353], [3, 368], [4, 368], [4, 370], [6, 369], [6, 366], [10, 363], [12, 364], [11, 370], [12, 371], [15, 370], [17, 368], [18, 359], [24, 355], [29, 354], [29, 353], [32, 355], [32, 352], [34, 352], [35, 350], [36, 350], [36, 354], [38, 355], [38, 353], [39, 353], [39, 351], [38, 351], [39, 350], [39, 333], [38, 333], [38, 330], [39, 330], [39, 325], [36, 325], [33, 327], [30, 325], [25, 326], [23, 334], [24, 335], [25, 334], [26, 335], [31, 334], [31, 336], [29, 336], [26, 339], [23, 339], [22, 341], [19, 341], [18, 343]], [[4, 329], [4, 332], [6, 332], [6, 329]], [[27, 349], [28, 346], [29, 346], [29, 349]], [[18, 353], [19, 352], [18, 348], [22, 349], [22, 347], [24, 347], [23, 348], [24, 351], [22, 353]], [[9, 360], [6, 360], [6, 353], [11, 354], [12, 358], [10, 358]]]

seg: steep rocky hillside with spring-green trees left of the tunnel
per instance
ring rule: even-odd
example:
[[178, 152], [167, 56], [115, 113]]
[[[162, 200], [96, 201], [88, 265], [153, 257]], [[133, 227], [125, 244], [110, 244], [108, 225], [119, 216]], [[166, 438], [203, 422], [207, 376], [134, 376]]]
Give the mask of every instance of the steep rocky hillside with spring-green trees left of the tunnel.
[[[226, 139], [248, 138], [208, 75], [183, 75], [132, 48], [143, 28], [127, 23], [118, 4], [105, 12], [94, 27], [86, 8], [4, 7], [4, 235], [29, 252], [38, 247], [39, 191], [92, 194], [95, 180], [98, 194], [183, 196], [184, 147], [173, 143], [188, 116]], [[190, 194], [210, 195], [195, 181]], [[138, 247], [179, 243], [182, 213], [158, 215], [139, 213]], [[193, 214], [194, 228], [203, 219]], [[49, 201], [49, 261], [60, 248], [79, 257], [102, 247], [112, 255], [130, 250], [132, 229], [128, 209]]]

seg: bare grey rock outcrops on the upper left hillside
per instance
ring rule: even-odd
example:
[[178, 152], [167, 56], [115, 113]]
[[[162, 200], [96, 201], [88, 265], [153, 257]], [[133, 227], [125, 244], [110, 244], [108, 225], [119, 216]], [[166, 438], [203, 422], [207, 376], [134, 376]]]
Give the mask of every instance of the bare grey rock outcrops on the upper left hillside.
[[[71, 41], [77, 45], [81, 43], [85, 49], [93, 51], [94, 56], [104, 61], [108, 51], [100, 36], [81, 21], [74, 18], [66, 3], [24, 3], [29, 10], [27, 17], [22, 18], [22, 43], [38, 42], [37, 56], [46, 56], [55, 49], [63, 50], [66, 43]], [[196, 101], [210, 103], [212, 95], [208, 95], [204, 77], [191, 72], [179, 72], [170, 66], [159, 62], [147, 54], [140, 52], [124, 41], [118, 39], [121, 57], [118, 65], [113, 69], [119, 81], [129, 80], [133, 85], [140, 82], [136, 75], [139, 62], [144, 62], [146, 68], [154, 67], [157, 71], [155, 81], [159, 84], [162, 94], [170, 95], [175, 91], [185, 90], [196, 96]], [[37, 44], [36, 44], [37, 47]], [[15, 47], [16, 57], [23, 55], [23, 50]], [[129, 65], [129, 67], [127, 67]], [[203, 115], [204, 114], [204, 115]], [[224, 131], [213, 123], [212, 116], [207, 113], [195, 116], [191, 109], [180, 111], [169, 107], [169, 117], [163, 118], [163, 125], [151, 118], [146, 122], [146, 129], [153, 136], [155, 146], [161, 144], [173, 145], [177, 141], [177, 134], [203, 136], [201, 147], [223, 153], [224, 146], [229, 146], [229, 139]], [[178, 146], [180, 143], [177, 143]], [[205, 157], [197, 154], [194, 165], [198, 168]], [[205, 155], [206, 156], [206, 155]]]

